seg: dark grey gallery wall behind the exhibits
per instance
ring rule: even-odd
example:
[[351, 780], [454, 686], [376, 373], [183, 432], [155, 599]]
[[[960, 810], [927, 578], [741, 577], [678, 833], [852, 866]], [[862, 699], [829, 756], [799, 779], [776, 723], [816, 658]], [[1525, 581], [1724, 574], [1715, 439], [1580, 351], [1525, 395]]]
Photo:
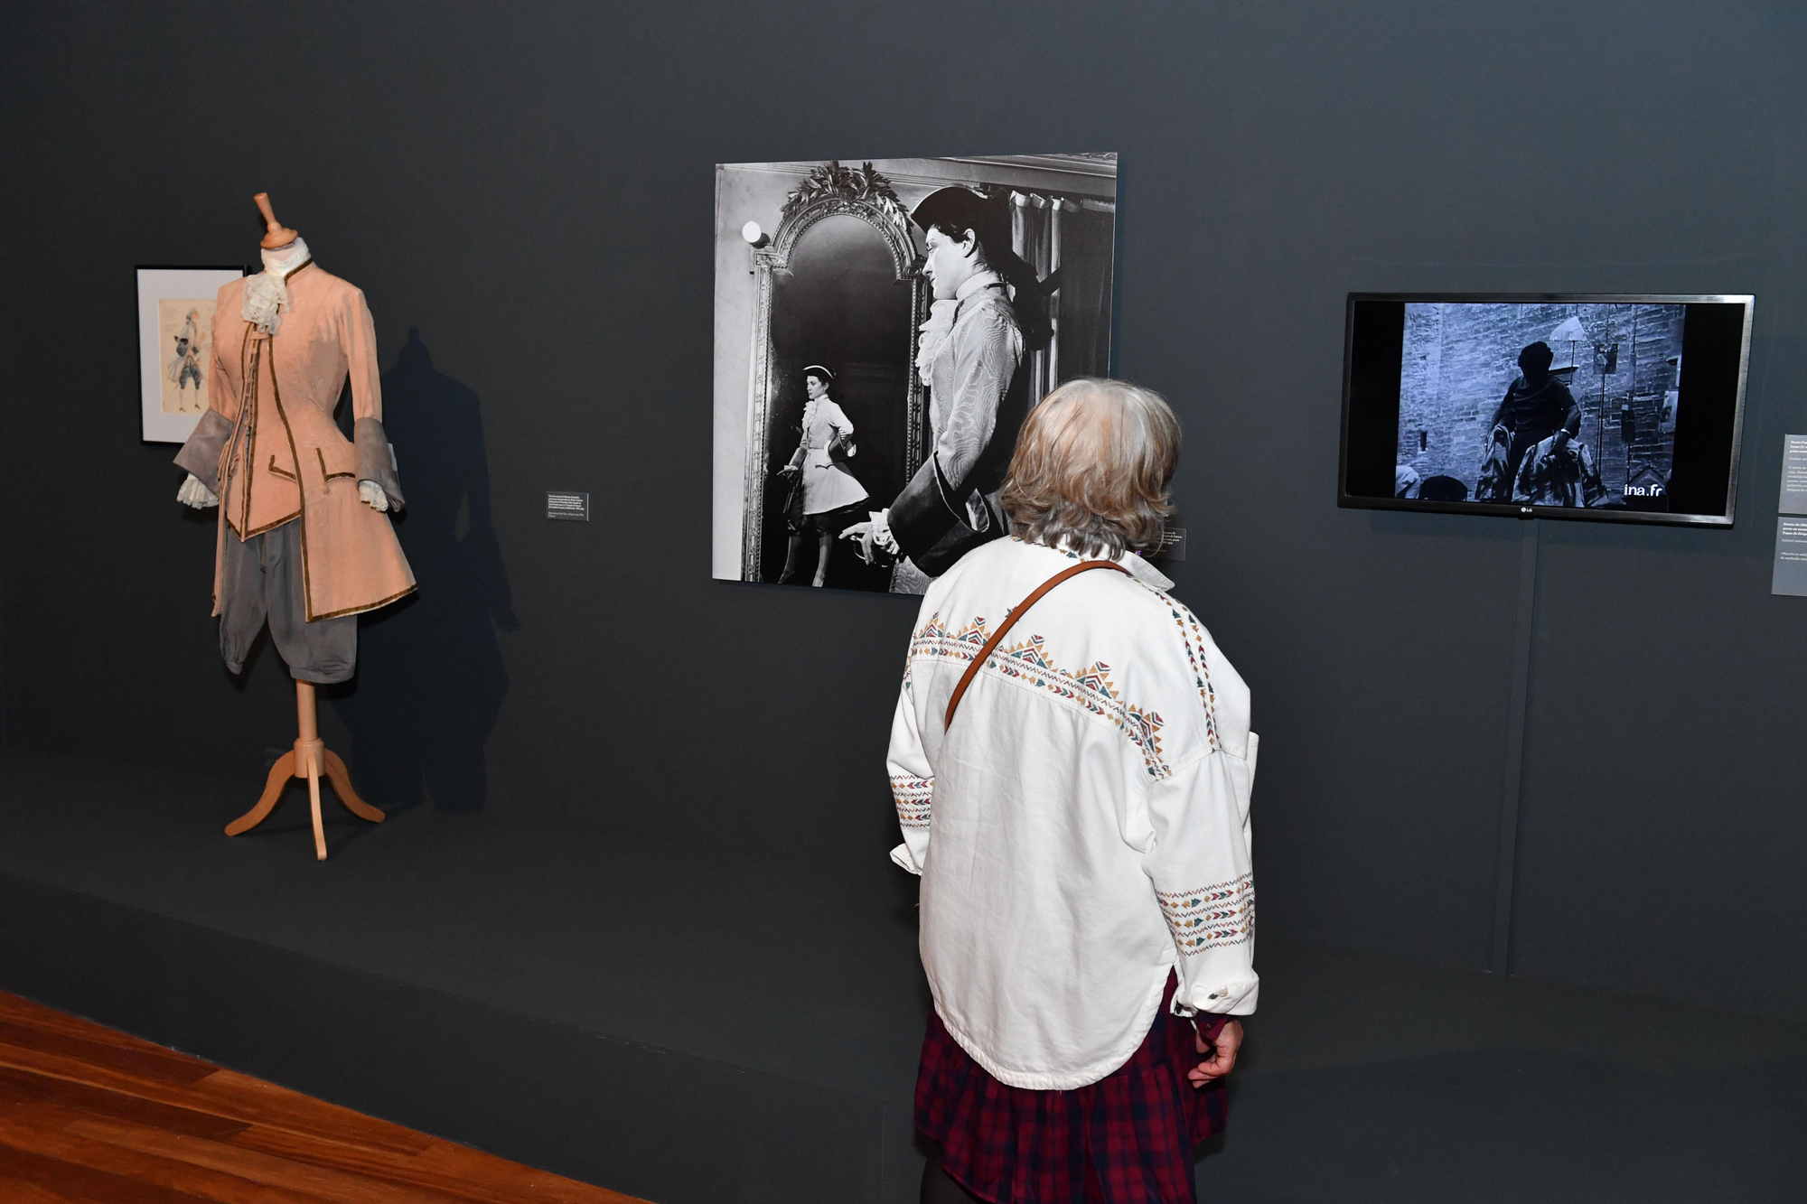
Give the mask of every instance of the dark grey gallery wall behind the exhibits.
[[1807, 602], [1767, 591], [1803, 16], [13, 5], [5, 739], [249, 797], [291, 738], [137, 439], [132, 266], [255, 260], [269, 190], [370, 300], [414, 497], [421, 595], [325, 716], [369, 794], [893, 873], [911, 604], [708, 578], [714, 165], [1117, 150], [1119, 363], [1185, 423], [1175, 575], [1254, 685], [1278, 938], [1491, 958], [1521, 530], [1334, 506], [1344, 293], [1758, 296], [1737, 530], [1543, 524], [1514, 965], [1807, 1016]]

